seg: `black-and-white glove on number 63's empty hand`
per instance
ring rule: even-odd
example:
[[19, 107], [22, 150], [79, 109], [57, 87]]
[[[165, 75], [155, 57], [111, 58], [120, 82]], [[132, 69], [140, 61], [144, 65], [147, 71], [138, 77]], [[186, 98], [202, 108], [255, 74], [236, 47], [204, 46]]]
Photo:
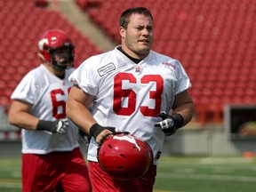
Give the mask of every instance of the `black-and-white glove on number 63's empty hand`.
[[155, 127], [159, 127], [164, 132], [164, 135], [171, 136], [177, 130], [177, 127], [174, 124], [175, 119], [173, 116], [167, 115], [164, 111], [162, 111], [157, 116], [161, 117], [163, 121], [157, 122]]

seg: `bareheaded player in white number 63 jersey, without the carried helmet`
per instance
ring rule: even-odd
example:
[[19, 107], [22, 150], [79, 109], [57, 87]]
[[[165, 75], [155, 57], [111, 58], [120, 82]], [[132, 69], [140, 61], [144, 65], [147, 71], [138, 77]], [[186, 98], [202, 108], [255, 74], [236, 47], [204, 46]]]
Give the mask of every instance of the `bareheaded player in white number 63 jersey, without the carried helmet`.
[[[69, 76], [74, 86], [67, 114], [92, 135], [87, 158], [93, 191], [149, 192], [155, 183], [164, 135], [172, 135], [193, 116], [194, 104], [188, 93], [191, 84], [179, 60], [151, 50], [154, 20], [148, 9], [125, 10], [119, 26], [121, 45], [85, 60]], [[88, 110], [91, 106], [92, 113]], [[130, 132], [152, 149], [153, 164], [141, 177], [118, 180], [101, 169], [98, 145], [117, 131]]]

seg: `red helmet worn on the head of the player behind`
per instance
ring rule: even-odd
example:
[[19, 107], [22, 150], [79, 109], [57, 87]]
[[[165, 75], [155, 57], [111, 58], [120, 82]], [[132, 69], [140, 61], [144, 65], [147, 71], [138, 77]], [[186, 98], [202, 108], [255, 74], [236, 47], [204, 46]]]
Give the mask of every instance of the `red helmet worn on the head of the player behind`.
[[[69, 36], [60, 29], [48, 30], [44, 33], [38, 42], [39, 54], [38, 56], [47, 62], [52, 63], [54, 68], [64, 70], [69, 65], [73, 65], [74, 61], [74, 45]], [[57, 62], [54, 59], [56, 51], [66, 50], [66, 54], [61, 55], [63, 61]]]

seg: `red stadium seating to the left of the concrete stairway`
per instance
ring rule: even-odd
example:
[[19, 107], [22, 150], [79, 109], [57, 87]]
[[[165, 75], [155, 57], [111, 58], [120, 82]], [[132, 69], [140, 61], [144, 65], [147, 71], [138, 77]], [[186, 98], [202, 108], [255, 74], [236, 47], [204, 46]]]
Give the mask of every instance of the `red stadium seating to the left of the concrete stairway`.
[[40, 63], [36, 56], [37, 42], [44, 31], [50, 28], [67, 31], [76, 45], [75, 66], [102, 52], [44, 0], [1, 0], [0, 22], [0, 105], [9, 104], [22, 76]]

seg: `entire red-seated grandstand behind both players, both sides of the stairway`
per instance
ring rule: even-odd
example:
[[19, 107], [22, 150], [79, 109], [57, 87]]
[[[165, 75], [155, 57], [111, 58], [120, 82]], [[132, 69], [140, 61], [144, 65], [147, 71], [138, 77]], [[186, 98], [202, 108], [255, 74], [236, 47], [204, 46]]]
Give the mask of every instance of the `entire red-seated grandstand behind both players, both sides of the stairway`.
[[[189, 92], [196, 104], [196, 126], [220, 125], [221, 135], [225, 105], [256, 103], [254, 0], [0, 0], [0, 106], [5, 111], [2, 114], [8, 112], [10, 95], [22, 76], [40, 63], [36, 44], [45, 30], [61, 28], [70, 34], [76, 45], [76, 67], [89, 56], [106, 51], [107, 42], [102, 44], [96, 33], [84, 33], [81, 22], [70, 21], [72, 15], [69, 17], [61, 9], [68, 4], [75, 4], [75, 12], [83, 12], [90, 19], [101, 36], [110, 40], [110, 47], [119, 44], [121, 12], [132, 6], [148, 7], [155, 20], [153, 50], [180, 60], [191, 79]], [[183, 134], [178, 134], [177, 140]], [[196, 134], [193, 132], [187, 139], [194, 139]], [[209, 132], [199, 137], [204, 136], [208, 137]], [[173, 146], [174, 141], [170, 141]], [[230, 144], [228, 151], [234, 148]]]

